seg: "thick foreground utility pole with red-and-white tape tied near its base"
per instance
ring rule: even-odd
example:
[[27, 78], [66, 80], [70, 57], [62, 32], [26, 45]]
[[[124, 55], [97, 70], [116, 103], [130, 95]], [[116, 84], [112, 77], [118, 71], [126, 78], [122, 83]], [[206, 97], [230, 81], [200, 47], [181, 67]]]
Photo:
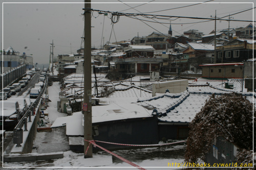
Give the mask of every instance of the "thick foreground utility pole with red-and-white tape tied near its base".
[[[83, 137], [84, 158], [93, 157], [92, 140], [92, 71], [91, 71], [91, 0], [84, 1], [84, 53], [83, 53]], [[87, 141], [86, 141], [87, 140]], [[87, 152], [87, 154], [86, 154]]]

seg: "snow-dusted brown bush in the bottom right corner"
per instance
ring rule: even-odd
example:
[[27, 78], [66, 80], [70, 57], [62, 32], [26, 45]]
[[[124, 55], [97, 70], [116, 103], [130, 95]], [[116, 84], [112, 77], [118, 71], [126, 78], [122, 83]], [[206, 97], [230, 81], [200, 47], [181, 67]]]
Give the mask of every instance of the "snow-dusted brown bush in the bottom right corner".
[[217, 136], [235, 143], [240, 149], [251, 151], [253, 121], [255, 124], [253, 104], [241, 94], [212, 95], [189, 124], [185, 161], [205, 160]]

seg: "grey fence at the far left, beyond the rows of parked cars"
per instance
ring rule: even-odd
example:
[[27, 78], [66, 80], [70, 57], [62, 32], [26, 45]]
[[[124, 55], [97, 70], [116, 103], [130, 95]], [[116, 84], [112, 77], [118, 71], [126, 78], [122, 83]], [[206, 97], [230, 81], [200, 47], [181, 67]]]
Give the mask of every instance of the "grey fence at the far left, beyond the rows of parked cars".
[[24, 74], [26, 74], [25, 64], [4, 72], [3, 74], [0, 75], [0, 78], [1, 78], [0, 89], [2, 90], [2, 88], [5, 88], [9, 84], [11, 84], [13, 81], [22, 77]]

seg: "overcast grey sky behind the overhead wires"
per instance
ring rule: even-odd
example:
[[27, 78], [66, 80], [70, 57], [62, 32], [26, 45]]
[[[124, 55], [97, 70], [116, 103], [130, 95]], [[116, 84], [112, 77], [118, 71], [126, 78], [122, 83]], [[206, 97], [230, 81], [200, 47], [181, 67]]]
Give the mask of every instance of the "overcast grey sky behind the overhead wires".
[[[206, 0], [205, 0], [206, 1]], [[92, 9], [123, 12], [123, 13], [146, 13], [155, 15], [167, 16], [185, 16], [185, 17], [201, 17], [210, 18], [215, 16], [217, 10], [217, 17], [228, 16], [229, 14], [238, 13], [250, 8], [253, 8], [253, 0], [241, 1], [211, 1], [195, 6], [194, 3], [205, 2], [198, 1], [172, 1], [168, 0], [147, 0], [147, 1], [123, 1], [112, 0], [108, 1], [92, 1]], [[24, 3], [17, 3], [20, 1], [3, 1], [3, 49], [12, 46], [15, 51], [33, 54], [34, 63], [49, 63], [50, 43], [54, 41], [54, 56], [58, 54], [71, 54], [83, 47], [81, 45], [81, 37], [83, 36], [83, 1], [23, 1]], [[26, 3], [25, 3], [26, 2]], [[50, 3], [51, 2], [51, 3]], [[72, 2], [72, 3], [70, 3]], [[123, 3], [122, 3], [123, 2]], [[125, 3], [129, 2], [129, 3]], [[151, 2], [151, 3], [148, 3]], [[179, 3], [178, 3], [179, 2]], [[182, 2], [182, 3], [180, 3]], [[189, 3], [188, 3], [189, 2]], [[55, 3], [55, 4], [54, 4]], [[65, 4], [67, 3], [67, 4]], [[147, 3], [147, 4], [145, 4]], [[189, 6], [189, 7], [184, 7]], [[255, 5], [256, 6], [256, 5]], [[133, 7], [133, 8], [132, 8]], [[173, 9], [177, 7], [183, 7]], [[169, 9], [169, 10], [167, 10]], [[160, 11], [161, 12], [154, 12]], [[154, 12], [154, 13], [153, 13]], [[112, 25], [111, 15], [104, 16], [93, 12], [92, 15], [92, 46], [100, 47], [106, 41], [115, 42], [121, 40], [131, 40], [137, 36], [147, 36], [152, 32], [168, 33], [169, 22], [172, 20], [173, 35], [181, 35], [184, 31], [195, 29], [209, 34], [215, 29], [215, 21], [202, 22], [206, 20], [187, 19], [187, 18], [163, 18], [153, 20], [151, 18], [139, 17], [139, 19], [146, 19], [154, 22], [164, 22], [166, 24], [146, 22], [133, 19], [127, 16], [120, 16], [119, 21]], [[231, 19], [236, 20], [253, 20], [253, 10], [232, 15]], [[225, 17], [223, 19], [228, 19]], [[194, 23], [201, 22], [201, 23]], [[190, 24], [187, 24], [190, 23]], [[250, 22], [230, 21], [230, 28], [245, 27]], [[114, 32], [111, 34], [112, 26]], [[227, 29], [228, 21], [217, 21], [217, 30]], [[103, 31], [102, 31], [103, 30]], [[103, 32], [103, 34], [102, 34]]]

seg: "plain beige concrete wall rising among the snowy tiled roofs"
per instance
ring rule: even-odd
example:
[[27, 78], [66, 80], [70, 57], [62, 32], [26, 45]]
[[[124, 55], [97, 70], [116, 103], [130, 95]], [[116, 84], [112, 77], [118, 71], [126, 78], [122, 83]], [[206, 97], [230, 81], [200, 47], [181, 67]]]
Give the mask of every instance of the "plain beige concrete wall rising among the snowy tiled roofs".
[[187, 89], [188, 80], [173, 80], [152, 84], [152, 96], [156, 93], [165, 93], [168, 89], [170, 93], [180, 93]]

